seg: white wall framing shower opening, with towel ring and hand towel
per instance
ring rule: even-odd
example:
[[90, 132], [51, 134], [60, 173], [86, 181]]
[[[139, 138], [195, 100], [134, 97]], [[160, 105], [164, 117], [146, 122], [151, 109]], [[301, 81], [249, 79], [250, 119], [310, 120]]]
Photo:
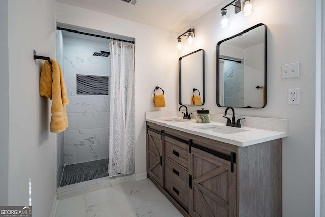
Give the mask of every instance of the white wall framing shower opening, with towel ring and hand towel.
[[[175, 110], [177, 34], [107, 14], [56, 3], [57, 22], [135, 38], [136, 163], [135, 173], [146, 172], [145, 111]], [[165, 108], [154, 108], [153, 90], [165, 91]]]

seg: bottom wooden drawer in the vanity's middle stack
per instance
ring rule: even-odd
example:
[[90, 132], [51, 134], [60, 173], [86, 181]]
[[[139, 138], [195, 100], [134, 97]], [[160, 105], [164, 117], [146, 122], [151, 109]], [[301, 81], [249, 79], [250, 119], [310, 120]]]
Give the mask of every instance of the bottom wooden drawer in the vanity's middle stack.
[[180, 179], [173, 178], [173, 176], [171, 176], [169, 173], [166, 172], [166, 169], [165, 169], [164, 176], [165, 176], [164, 187], [166, 191], [168, 191], [168, 193], [171, 194], [172, 197], [188, 211], [188, 205], [189, 205], [188, 173], [187, 173], [187, 184], [185, 184], [183, 181], [180, 181]]

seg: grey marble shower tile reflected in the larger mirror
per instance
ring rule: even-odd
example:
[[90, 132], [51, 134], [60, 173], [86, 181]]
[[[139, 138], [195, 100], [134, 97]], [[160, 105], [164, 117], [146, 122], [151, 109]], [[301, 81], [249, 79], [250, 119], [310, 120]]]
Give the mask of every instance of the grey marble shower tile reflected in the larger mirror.
[[224, 103], [227, 106], [244, 106], [244, 65], [224, 61]]

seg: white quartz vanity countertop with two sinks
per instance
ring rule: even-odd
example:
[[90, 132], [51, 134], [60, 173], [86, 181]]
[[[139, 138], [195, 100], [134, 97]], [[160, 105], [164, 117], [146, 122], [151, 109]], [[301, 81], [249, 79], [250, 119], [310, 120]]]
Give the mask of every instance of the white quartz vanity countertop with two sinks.
[[[258, 128], [251, 128], [245, 126], [242, 126], [241, 128], [236, 128], [236, 127], [226, 126], [226, 123], [220, 123], [220, 122], [196, 123], [193, 119], [186, 122], [171, 122], [168, 120], [172, 120], [172, 119], [181, 120], [182, 118], [177, 117], [176, 115], [168, 116], [168, 117], [165, 116], [160, 118], [154, 118], [154, 117], [150, 118], [150, 116], [152, 117], [152, 115], [146, 115], [146, 121], [151, 123], [156, 123], [157, 125], [165, 126], [171, 129], [217, 140], [220, 142], [237, 145], [240, 147], [254, 145], [254, 144], [280, 139], [288, 136], [287, 130], [285, 132], [281, 132], [281, 131], [258, 129]], [[267, 118], [261, 118], [261, 119], [262, 121], [265, 122], [265, 119]], [[271, 118], [269, 119], [274, 120]], [[287, 123], [287, 120], [284, 119], [275, 119], [275, 120], [283, 120], [285, 121], [285, 123]], [[214, 132], [212, 128], [216, 129], [217, 132]], [[243, 131], [243, 132], [239, 132], [239, 131]]]

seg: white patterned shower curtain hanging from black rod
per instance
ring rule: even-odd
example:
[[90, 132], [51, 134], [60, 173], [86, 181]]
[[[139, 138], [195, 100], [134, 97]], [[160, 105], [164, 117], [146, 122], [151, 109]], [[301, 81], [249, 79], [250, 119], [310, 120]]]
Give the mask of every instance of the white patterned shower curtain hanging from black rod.
[[135, 165], [135, 70], [134, 45], [110, 43], [110, 177], [134, 172]]

